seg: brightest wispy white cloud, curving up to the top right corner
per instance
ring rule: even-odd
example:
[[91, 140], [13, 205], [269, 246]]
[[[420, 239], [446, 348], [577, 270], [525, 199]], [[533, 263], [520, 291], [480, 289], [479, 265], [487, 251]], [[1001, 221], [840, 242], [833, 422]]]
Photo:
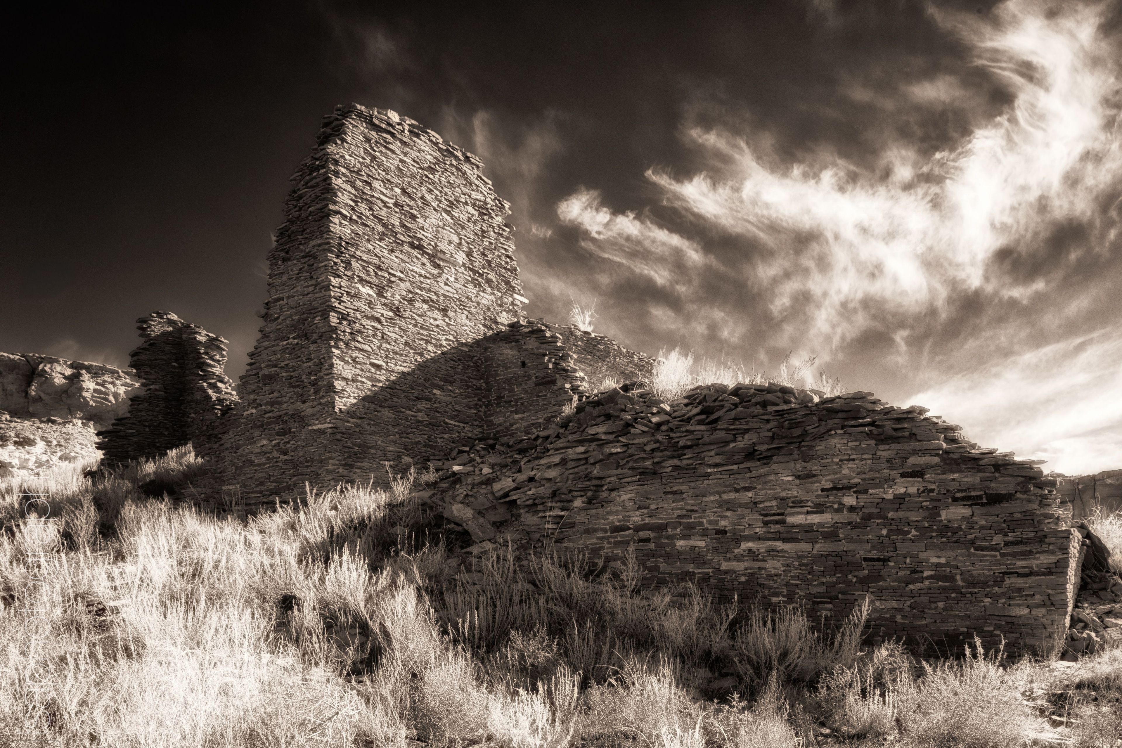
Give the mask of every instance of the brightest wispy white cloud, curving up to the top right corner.
[[1015, 99], [926, 163], [896, 146], [882, 154], [888, 177], [838, 159], [770, 167], [744, 139], [693, 129], [688, 137], [727, 166], [649, 176], [669, 204], [760, 242], [766, 261], [752, 265], [751, 279], [776, 308], [818, 299], [808, 322], [822, 343], [858, 334], [870, 320], [855, 310], [871, 303], [941, 310], [953, 293], [981, 286], [1023, 297], [1039, 286], [992, 277], [993, 256], [1031, 252], [1057, 222], [1093, 221], [1122, 169], [1116, 54], [1097, 31], [1102, 9], [1051, 10], [1046, 19], [1042, 3], [1008, 2], [994, 21], [939, 15]]

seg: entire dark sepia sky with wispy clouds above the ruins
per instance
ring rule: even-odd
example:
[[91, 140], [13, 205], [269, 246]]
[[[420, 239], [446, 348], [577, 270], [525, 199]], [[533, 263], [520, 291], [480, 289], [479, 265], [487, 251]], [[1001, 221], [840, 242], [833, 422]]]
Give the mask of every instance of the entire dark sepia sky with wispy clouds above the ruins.
[[485, 160], [532, 316], [1122, 468], [1119, 2], [175, 4], [8, 16], [0, 350], [126, 366], [168, 310], [237, 377], [355, 101]]

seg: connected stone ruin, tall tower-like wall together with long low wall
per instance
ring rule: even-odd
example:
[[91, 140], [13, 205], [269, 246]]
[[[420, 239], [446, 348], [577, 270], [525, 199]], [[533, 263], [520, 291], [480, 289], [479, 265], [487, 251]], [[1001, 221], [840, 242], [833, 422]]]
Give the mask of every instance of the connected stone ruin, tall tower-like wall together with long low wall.
[[[834, 621], [870, 594], [874, 636], [944, 648], [1064, 636], [1083, 546], [1056, 481], [870, 393], [657, 400], [649, 357], [522, 315], [507, 204], [481, 168], [393, 112], [325, 118], [269, 252], [241, 401], [202, 440], [212, 499], [251, 514], [431, 462], [426, 500], [477, 550], [634, 553], [647, 584]], [[606, 379], [629, 384], [589, 391]]]

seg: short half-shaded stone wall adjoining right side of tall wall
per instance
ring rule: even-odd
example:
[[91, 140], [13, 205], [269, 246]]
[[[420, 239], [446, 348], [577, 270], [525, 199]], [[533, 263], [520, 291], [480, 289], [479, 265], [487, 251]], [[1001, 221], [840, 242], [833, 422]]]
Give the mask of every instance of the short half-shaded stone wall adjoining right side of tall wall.
[[542, 321], [514, 322], [480, 341], [488, 438], [532, 435], [606, 379], [649, 379], [651, 359], [604, 335]]

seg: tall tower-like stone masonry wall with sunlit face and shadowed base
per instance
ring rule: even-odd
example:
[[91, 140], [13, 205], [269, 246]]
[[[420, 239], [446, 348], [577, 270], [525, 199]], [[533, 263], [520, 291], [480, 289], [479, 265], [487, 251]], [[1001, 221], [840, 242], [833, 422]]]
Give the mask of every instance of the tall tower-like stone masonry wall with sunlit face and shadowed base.
[[385, 480], [484, 433], [476, 341], [518, 318], [509, 206], [482, 163], [390, 111], [324, 118], [269, 252], [218, 477], [249, 505]]

